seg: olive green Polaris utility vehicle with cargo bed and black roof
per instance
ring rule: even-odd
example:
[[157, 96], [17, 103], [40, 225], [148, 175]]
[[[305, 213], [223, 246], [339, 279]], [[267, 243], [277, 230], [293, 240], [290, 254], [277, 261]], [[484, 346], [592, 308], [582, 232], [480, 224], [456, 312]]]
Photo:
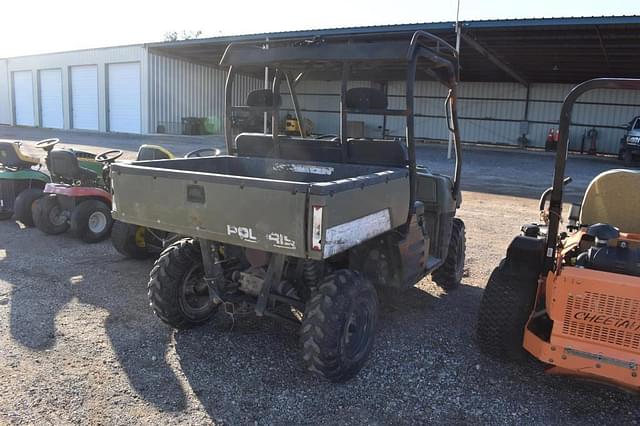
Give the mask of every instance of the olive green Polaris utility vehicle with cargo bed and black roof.
[[[221, 66], [229, 155], [116, 163], [113, 215], [119, 221], [185, 236], [156, 260], [148, 285], [156, 315], [177, 329], [217, 311], [254, 312], [299, 325], [306, 368], [344, 381], [363, 367], [378, 316], [376, 287], [400, 290], [428, 274], [451, 290], [465, 259], [461, 149], [456, 115], [458, 59], [442, 39], [418, 31], [409, 40], [361, 38], [228, 46]], [[235, 77], [271, 70], [272, 89], [251, 92], [243, 108], [269, 112], [271, 134], [234, 137]], [[350, 79], [406, 81], [405, 104], [388, 107], [376, 88], [348, 89]], [[280, 88], [340, 82], [339, 136], [306, 138], [280, 129]], [[416, 165], [417, 79], [448, 88], [445, 110], [456, 152], [453, 178]], [[347, 137], [349, 114], [393, 116], [402, 139]]]

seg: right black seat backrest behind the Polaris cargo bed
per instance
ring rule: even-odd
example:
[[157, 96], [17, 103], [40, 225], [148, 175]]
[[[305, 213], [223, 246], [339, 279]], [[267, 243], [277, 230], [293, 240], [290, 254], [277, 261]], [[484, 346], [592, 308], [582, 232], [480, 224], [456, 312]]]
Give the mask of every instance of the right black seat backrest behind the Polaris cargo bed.
[[350, 139], [347, 142], [349, 163], [405, 167], [409, 163], [407, 147], [402, 141]]

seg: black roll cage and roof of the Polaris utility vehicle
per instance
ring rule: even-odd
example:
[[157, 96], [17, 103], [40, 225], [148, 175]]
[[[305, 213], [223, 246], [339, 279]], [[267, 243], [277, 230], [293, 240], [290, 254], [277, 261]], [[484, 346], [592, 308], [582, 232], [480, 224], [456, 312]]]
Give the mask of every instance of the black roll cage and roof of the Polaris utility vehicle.
[[[372, 35], [368, 35], [371, 37]], [[350, 113], [372, 114], [372, 115], [394, 115], [406, 118], [406, 141], [409, 156], [409, 185], [410, 185], [410, 210], [416, 200], [416, 152], [414, 138], [414, 89], [416, 75], [418, 71], [418, 61], [420, 70], [425, 71], [430, 77], [442, 83], [449, 89], [445, 100], [445, 112], [447, 127], [453, 135], [453, 145], [455, 152], [455, 172], [453, 176], [453, 196], [458, 199], [460, 194], [460, 178], [462, 171], [462, 150], [457, 115], [457, 85], [458, 85], [458, 52], [446, 41], [424, 31], [416, 31], [411, 37], [411, 41], [364, 40], [361, 36], [345, 38], [322, 38], [313, 40], [287, 39], [269, 42], [268, 48], [265, 43], [261, 45], [255, 42], [232, 43], [230, 44], [220, 61], [220, 65], [228, 68], [225, 83], [225, 142], [227, 152], [235, 154], [232, 129], [233, 84], [236, 75], [243, 69], [252, 69], [256, 72], [265, 67], [274, 69], [271, 81], [272, 93], [280, 93], [280, 85], [286, 79], [290, 89], [295, 88], [301, 76], [307, 70], [313, 69], [313, 65], [338, 66], [341, 81], [340, 85], [340, 143], [343, 159], [347, 154], [347, 116]], [[397, 71], [397, 67], [404, 69], [406, 79], [406, 108], [399, 110], [361, 110], [352, 111], [347, 108], [347, 83], [352, 70], [356, 64], [375, 63], [368, 72], [380, 75], [384, 71], [385, 65]], [[424, 67], [423, 67], [424, 63]], [[396, 68], [393, 68], [393, 67]], [[292, 71], [298, 72], [295, 80]], [[293, 80], [293, 81], [292, 81]], [[336, 80], [336, 79], [334, 79]], [[374, 80], [372, 78], [371, 80]], [[290, 90], [296, 116], [300, 118], [297, 95], [295, 90]], [[274, 149], [279, 155], [280, 129], [279, 116], [280, 106], [274, 102], [270, 108], [271, 112], [271, 133], [273, 136]]]

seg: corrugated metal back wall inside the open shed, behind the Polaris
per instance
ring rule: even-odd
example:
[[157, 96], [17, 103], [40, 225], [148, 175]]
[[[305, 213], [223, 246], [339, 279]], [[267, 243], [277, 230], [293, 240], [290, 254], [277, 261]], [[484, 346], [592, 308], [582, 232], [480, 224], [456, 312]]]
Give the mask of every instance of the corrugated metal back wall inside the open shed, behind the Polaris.
[[[368, 86], [353, 82], [350, 87]], [[389, 107], [404, 107], [404, 83], [388, 85]], [[529, 146], [543, 147], [547, 132], [557, 127], [562, 100], [571, 85], [532, 84], [529, 94]], [[319, 133], [338, 132], [339, 84], [336, 82], [301, 82], [297, 88], [304, 116], [315, 123]], [[448, 138], [444, 118], [446, 89], [435, 82], [419, 82], [416, 87], [416, 136], [431, 140]], [[318, 96], [320, 95], [320, 96]], [[518, 145], [525, 119], [527, 89], [517, 83], [460, 84], [458, 114], [465, 142]], [[286, 97], [285, 97], [286, 100]], [[285, 102], [284, 107], [287, 108]], [[290, 108], [290, 107], [289, 107]], [[579, 150], [585, 130], [598, 130], [597, 149], [617, 153], [624, 131], [618, 128], [640, 115], [640, 93], [600, 90], [585, 95], [576, 105], [571, 128], [571, 148]], [[382, 135], [382, 117], [350, 116], [364, 121], [368, 137]], [[386, 127], [392, 136], [404, 134], [404, 119], [387, 117]]]

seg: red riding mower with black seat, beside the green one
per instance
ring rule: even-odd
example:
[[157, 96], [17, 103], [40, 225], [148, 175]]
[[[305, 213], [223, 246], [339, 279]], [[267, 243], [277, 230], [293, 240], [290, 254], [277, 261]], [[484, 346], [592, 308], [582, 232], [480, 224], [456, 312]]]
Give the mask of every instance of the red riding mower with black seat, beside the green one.
[[111, 218], [111, 186], [109, 165], [123, 154], [110, 150], [85, 163], [99, 164], [91, 170], [81, 167], [77, 152], [53, 149], [56, 140], [39, 143], [45, 149], [47, 168], [52, 183], [44, 187], [44, 196], [33, 207], [33, 221], [44, 233], [61, 234], [71, 228], [73, 234], [87, 243], [109, 237]]

